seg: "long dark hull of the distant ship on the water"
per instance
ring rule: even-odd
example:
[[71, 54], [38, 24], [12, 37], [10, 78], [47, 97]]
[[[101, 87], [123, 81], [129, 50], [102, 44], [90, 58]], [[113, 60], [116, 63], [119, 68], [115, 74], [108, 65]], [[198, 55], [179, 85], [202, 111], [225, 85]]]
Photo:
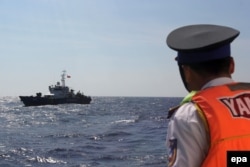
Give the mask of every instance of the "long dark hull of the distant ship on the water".
[[19, 96], [24, 106], [42, 106], [58, 104], [90, 104], [91, 97], [48, 98], [34, 96]]

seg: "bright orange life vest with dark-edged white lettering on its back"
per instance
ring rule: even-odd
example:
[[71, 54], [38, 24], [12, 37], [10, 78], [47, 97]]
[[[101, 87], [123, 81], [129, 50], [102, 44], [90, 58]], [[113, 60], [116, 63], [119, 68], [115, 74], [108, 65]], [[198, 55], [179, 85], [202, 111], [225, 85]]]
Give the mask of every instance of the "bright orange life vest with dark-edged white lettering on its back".
[[224, 167], [227, 151], [250, 150], [250, 83], [207, 88], [192, 101], [205, 115], [210, 133], [202, 167]]

